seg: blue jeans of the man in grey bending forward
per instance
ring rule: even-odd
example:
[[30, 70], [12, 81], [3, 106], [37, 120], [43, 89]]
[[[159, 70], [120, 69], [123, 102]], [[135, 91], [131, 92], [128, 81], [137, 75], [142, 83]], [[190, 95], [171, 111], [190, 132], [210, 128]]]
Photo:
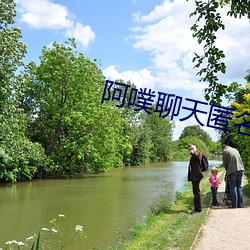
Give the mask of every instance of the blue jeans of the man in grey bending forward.
[[237, 171], [236, 173], [228, 176], [230, 185], [230, 192], [232, 196], [232, 207], [243, 207], [243, 196], [242, 196], [242, 176], [244, 171]]

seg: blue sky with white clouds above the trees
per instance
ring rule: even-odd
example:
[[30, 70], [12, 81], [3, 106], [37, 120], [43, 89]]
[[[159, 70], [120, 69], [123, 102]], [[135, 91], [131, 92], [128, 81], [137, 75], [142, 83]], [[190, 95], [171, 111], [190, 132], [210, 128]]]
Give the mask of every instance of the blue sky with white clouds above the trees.
[[[43, 46], [53, 41], [64, 43], [76, 39], [78, 50], [91, 60], [96, 59], [107, 80], [131, 81], [137, 89], [152, 89], [206, 102], [192, 58], [202, 47], [192, 37], [190, 27], [195, 9], [189, 0], [16, 0], [16, 26], [22, 29], [22, 41], [27, 44], [25, 62], [39, 64]], [[225, 52], [227, 72], [220, 81], [241, 83], [250, 69], [250, 21], [235, 19], [221, 10], [226, 26], [217, 36], [217, 45]], [[187, 107], [192, 103], [186, 102]], [[226, 106], [228, 103], [223, 103]], [[209, 105], [201, 109], [209, 112]], [[173, 139], [183, 128], [198, 125], [195, 117], [185, 111], [174, 118]], [[189, 112], [190, 113], [190, 112]], [[185, 115], [184, 115], [185, 114]], [[182, 116], [181, 116], [182, 115]], [[213, 140], [218, 129], [207, 125], [207, 115], [198, 118]]]

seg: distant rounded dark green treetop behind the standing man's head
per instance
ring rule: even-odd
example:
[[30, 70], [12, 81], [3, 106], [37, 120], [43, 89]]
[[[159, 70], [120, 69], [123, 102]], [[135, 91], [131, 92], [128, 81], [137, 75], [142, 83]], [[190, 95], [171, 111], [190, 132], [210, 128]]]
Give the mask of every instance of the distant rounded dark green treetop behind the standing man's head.
[[179, 137], [179, 140], [184, 139], [188, 136], [199, 138], [207, 145], [207, 147], [209, 147], [212, 142], [211, 136], [206, 131], [201, 129], [199, 125], [185, 127]]

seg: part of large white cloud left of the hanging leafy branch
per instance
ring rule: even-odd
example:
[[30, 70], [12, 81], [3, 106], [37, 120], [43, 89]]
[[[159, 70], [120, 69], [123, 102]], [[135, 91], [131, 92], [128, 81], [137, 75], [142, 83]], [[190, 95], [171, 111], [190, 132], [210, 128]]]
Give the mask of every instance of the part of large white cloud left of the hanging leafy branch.
[[150, 53], [157, 86], [196, 92], [206, 87], [193, 84], [192, 56], [197, 46], [190, 31], [193, 8], [193, 4], [182, 0], [164, 1], [148, 15], [134, 15], [138, 22], [132, 29], [134, 48]]

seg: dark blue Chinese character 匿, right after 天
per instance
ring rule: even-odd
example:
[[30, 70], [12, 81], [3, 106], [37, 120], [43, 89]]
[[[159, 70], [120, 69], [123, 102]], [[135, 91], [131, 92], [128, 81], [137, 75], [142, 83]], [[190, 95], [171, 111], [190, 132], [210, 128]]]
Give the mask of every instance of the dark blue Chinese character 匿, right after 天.
[[[233, 115], [234, 109], [221, 107], [215, 104], [211, 105], [208, 120], [207, 120], [207, 127], [222, 129], [224, 131], [230, 131], [227, 129], [228, 120], [232, 120], [230, 115]], [[212, 116], [214, 118], [212, 118]], [[214, 125], [210, 125], [210, 121], [214, 122]]]

